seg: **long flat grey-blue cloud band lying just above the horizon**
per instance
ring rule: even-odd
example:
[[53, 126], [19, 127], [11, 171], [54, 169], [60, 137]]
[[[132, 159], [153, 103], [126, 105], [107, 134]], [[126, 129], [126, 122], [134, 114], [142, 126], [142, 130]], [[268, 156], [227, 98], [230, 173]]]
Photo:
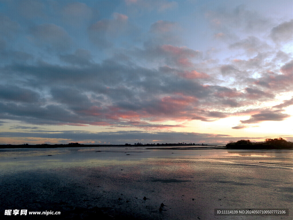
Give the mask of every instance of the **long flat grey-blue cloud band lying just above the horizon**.
[[[154, 143], [153, 140], [161, 140], [159, 143], [202, 143], [231, 140], [230, 135], [214, 133], [195, 133], [195, 132], [144, 132], [144, 131], [116, 131], [116, 132], [87, 132], [87, 131], [38, 131], [38, 132], [1, 132], [1, 137], [23, 137], [23, 138], [52, 138], [60, 139], [59, 143], [70, 143], [84, 141], [95, 141], [96, 143], [124, 144], [124, 143]], [[65, 141], [64, 141], [65, 139]], [[234, 139], [234, 138], [232, 138]], [[157, 142], [155, 142], [157, 143]]]

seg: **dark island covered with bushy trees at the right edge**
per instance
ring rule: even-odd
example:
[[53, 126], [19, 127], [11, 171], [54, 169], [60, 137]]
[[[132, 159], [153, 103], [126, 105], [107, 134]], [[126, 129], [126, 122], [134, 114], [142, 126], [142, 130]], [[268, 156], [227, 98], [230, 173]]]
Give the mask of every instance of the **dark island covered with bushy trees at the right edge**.
[[253, 143], [250, 140], [231, 141], [226, 145], [227, 149], [293, 149], [293, 143], [283, 138], [267, 138], [264, 142]]

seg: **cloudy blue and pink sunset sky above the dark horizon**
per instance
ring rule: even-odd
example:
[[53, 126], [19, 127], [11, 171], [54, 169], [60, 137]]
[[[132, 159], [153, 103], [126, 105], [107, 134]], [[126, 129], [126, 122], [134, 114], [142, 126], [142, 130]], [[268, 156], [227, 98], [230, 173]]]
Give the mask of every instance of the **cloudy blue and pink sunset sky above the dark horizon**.
[[0, 1], [0, 143], [293, 141], [293, 1]]

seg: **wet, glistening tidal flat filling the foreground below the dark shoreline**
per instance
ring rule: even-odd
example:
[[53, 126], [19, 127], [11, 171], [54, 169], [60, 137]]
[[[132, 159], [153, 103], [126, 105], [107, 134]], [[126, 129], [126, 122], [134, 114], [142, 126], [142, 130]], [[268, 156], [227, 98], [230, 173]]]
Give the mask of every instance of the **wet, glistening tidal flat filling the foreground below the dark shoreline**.
[[[292, 219], [292, 159], [292, 150], [217, 146], [1, 149], [0, 214], [56, 220]], [[214, 215], [214, 209], [256, 208], [289, 209], [289, 215]], [[61, 214], [4, 215], [9, 209]]]

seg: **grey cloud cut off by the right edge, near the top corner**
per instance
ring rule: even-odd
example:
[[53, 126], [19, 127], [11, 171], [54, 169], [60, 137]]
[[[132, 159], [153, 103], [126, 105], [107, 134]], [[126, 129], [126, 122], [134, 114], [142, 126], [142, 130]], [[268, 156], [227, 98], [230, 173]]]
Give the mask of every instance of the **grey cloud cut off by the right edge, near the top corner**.
[[293, 19], [272, 28], [270, 37], [277, 43], [288, 42], [293, 39]]

